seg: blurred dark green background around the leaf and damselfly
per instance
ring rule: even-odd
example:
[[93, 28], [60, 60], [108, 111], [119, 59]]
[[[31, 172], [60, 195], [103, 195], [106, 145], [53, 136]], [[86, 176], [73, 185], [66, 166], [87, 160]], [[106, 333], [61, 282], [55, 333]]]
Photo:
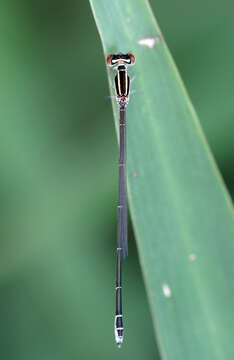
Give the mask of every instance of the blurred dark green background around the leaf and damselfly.
[[[234, 195], [234, 3], [151, 5]], [[1, 359], [158, 358], [133, 235], [114, 343], [118, 148], [89, 3], [3, 1], [0, 28]]]

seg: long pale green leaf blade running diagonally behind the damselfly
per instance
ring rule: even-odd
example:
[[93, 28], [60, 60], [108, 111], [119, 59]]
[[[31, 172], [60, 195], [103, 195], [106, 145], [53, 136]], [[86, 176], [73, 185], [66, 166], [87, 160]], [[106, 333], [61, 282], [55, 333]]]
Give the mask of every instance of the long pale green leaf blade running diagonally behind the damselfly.
[[[161, 357], [231, 359], [230, 197], [148, 2], [90, 3], [105, 56], [136, 57], [128, 195]], [[118, 125], [114, 100], [113, 109]]]

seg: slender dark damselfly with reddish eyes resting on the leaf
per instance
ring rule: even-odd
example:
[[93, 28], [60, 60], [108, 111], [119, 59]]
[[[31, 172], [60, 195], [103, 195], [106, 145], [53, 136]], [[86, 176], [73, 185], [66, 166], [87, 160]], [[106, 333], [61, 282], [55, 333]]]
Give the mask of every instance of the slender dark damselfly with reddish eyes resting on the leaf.
[[115, 95], [119, 106], [119, 192], [117, 227], [117, 266], [116, 266], [116, 312], [114, 321], [115, 341], [118, 347], [123, 343], [122, 314], [122, 260], [128, 254], [127, 238], [127, 193], [126, 193], [126, 109], [129, 101], [130, 78], [128, 67], [135, 63], [132, 54], [110, 54], [107, 65], [115, 70]]

